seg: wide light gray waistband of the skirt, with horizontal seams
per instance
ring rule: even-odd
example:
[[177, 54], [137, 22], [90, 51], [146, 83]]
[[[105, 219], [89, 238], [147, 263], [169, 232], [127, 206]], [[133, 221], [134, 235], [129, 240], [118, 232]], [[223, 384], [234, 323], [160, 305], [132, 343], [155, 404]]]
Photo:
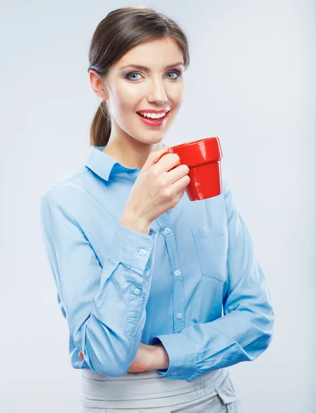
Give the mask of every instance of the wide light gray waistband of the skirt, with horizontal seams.
[[192, 381], [166, 379], [156, 370], [128, 372], [109, 377], [82, 369], [82, 405], [104, 408], [163, 407], [170, 403], [187, 403], [214, 392], [228, 374], [227, 368], [206, 372]]

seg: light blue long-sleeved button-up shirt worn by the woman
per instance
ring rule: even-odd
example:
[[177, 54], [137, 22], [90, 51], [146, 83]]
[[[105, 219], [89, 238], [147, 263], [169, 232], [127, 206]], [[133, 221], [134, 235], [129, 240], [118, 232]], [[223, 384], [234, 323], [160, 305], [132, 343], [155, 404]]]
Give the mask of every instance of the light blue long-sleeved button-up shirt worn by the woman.
[[102, 149], [91, 146], [83, 167], [41, 195], [71, 365], [120, 377], [140, 341], [163, 343], [170, 363], [157, 372], [170, 379], [256, 359], [271, 342], [274, 313], [227, 182], [206, 200], [184, 193], [146, 235], [119, 222], [139, 169]]

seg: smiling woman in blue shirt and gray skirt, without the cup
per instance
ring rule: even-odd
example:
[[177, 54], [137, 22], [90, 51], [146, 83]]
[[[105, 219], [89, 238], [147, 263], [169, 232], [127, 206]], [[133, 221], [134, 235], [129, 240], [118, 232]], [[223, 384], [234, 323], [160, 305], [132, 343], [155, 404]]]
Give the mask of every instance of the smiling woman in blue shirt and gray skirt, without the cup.
[[102, 102], [87, 160], [41, 196], [82, 412], [242, 412], [227, 367], [267, 349], [274, 313], [227, 183], [190, 202], [188, 167], [162, 156], [188, 39], [151, 8], [120, 8], [89, 59]]

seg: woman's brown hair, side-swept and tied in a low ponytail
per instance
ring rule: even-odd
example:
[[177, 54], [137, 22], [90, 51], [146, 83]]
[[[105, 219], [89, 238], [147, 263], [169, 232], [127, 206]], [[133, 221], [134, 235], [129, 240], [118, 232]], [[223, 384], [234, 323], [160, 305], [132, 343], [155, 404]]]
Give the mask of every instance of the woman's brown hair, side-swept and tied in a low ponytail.
[[[100, 21], [89, 48], [89, 70], [106, 78], [111, 65], [139, 43], [172, 37], [181, 48], [184, 70], [190, 65], [188, 39], [180, 26], [164, 14], [148, 6], [113, 10]], [[102, 100], [90, 127], [90, 144], [106, 146], [111, 134], [111, 117], [107, 101]]]

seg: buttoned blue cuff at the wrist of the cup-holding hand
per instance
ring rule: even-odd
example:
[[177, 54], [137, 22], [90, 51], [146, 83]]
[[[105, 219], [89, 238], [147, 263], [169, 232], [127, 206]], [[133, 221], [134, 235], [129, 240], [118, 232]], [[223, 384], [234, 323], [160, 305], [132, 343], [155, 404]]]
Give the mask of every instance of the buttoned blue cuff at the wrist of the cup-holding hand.
[[157, 236], [155, 229], [150, 229], [149, 235], [146, 235], [117, 221], [109, 255], [123, 264], [145, 271]]

